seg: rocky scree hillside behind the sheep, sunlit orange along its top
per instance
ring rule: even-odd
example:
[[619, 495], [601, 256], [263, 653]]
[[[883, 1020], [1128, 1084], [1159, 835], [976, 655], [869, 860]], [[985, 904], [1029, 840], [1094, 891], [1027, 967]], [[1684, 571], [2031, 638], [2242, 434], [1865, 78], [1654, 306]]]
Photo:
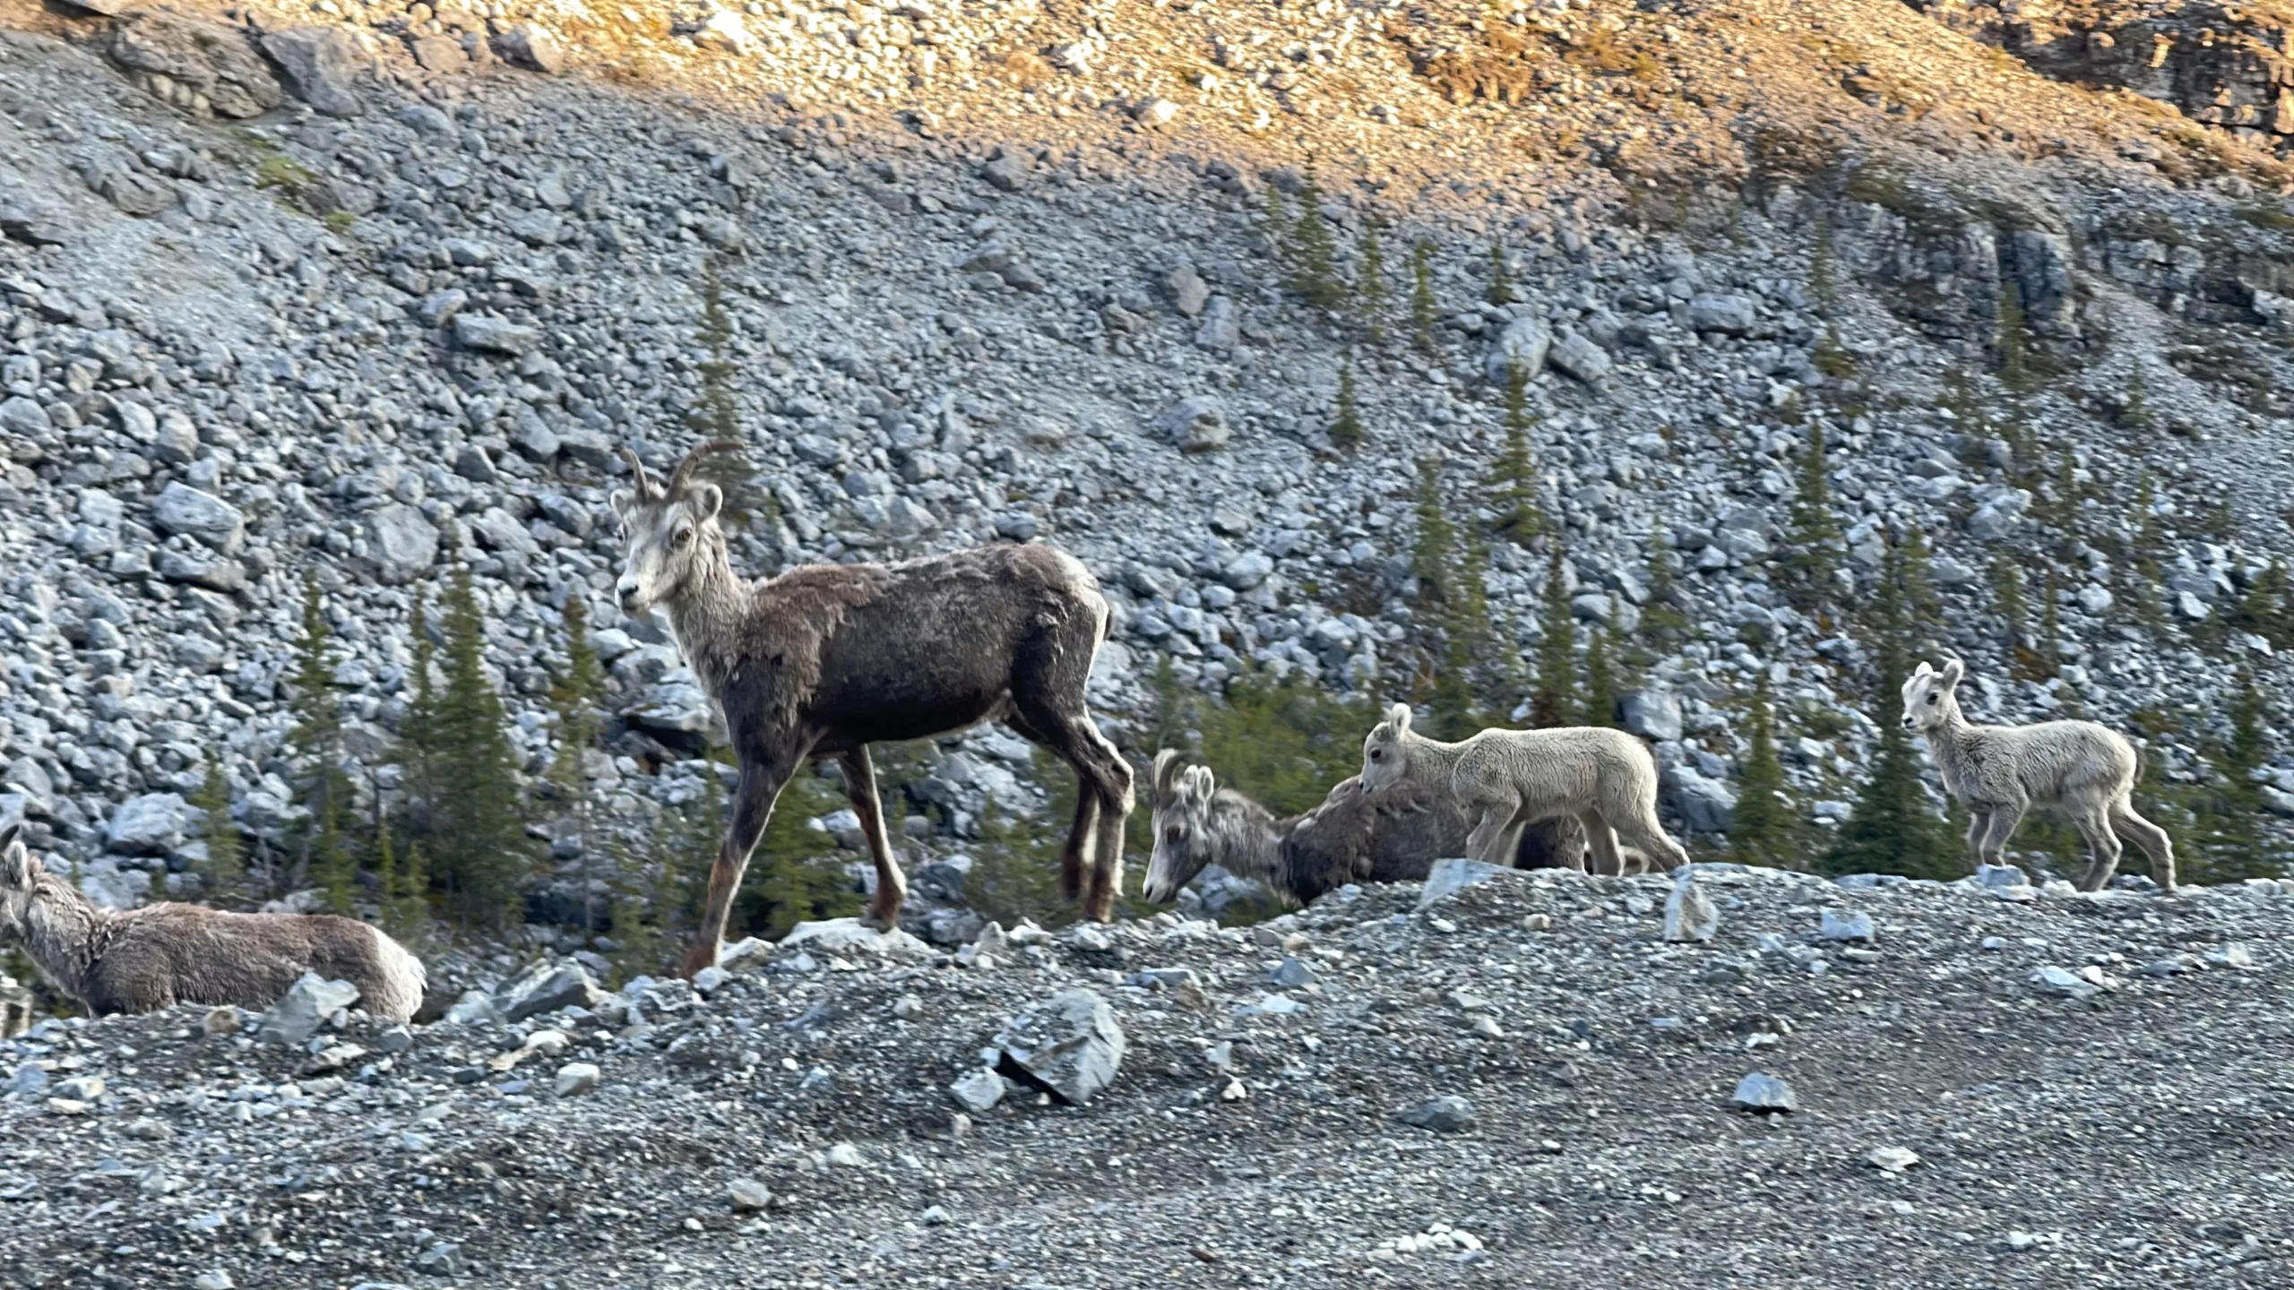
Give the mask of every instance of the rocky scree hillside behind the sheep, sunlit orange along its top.
[[[1727, 824], [1757, 670], [1805, 725], [1803, 813], [1837, 817], [1870, 746], [1865, 645], [1776, 590], [1812, 420], [1835, 595], [1925, 533], [1980, 714], [2168, 707], [2188, 774], [2234, 668], [2276, 677], [2214, 624], [2285, 546], [2278, 163], [1902, 5], [7, 14], [0, 810], [112, 904], [197, 891], [179, 796], [209, 760], [250, 831], [294, 822], [305, 567], [360, 762], [404, 714], [411, 590], [466, 565], [530, 769], [557, 608], [590, 597], [608, 815], [697, 792], [711, 714], [658, 624], [612, 613], [603, 496], [615, 445], [697, 434], [704, 259], [771, 498], [741, 567], [1071, 546], [1117, 606], [1099, 698], [1126, 737], [1158, 656], [1399, 689], [1409, 480], [1448, 459], [1480, 505], [1509, 363], [1576, 613], [1631, 634], [1652, 551], [1682, 567], [1698, 631], [1636, 707], [1677, 824]], [[725, 34], [752, 18], [778, 34]], [[1067, 23], [1101, 53], [1051, 44]], [[1296, 207], [1310, 168], [1344, 271], [1386, 223], [1383, 344], [1278, 287], [1269, 188]], [[1431, 353], [1399, 308], [1420, 241]], [[1519, 301], [1489, 301], [1491, 243]], [[1356, 452], [1328, 441], [1349, 342]], [[1982, 374], [2010, 344], [2012, 404]], [[2122, 555], [2145, 480], [2156, 629]], [[1987, 572], [2042, 555], [2060, 659], [2019, 679]], [[1491, 558], [1526, 650], [1542, 560]], [[918, 792], [961, 831], [1028, 796], [1019, 753], [950, 741]]]

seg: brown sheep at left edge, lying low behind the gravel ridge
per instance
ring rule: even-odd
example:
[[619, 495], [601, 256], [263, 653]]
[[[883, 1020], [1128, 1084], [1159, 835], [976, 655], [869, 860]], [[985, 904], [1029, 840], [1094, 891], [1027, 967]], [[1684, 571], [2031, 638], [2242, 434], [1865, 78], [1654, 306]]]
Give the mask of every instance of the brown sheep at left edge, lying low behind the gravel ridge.
[[174, 1003], [268, 1008], [303, 973], [356, 985], [358, 1005], [390, 1021], [422, 1005], [422, 959], [365, 923], [174, 902], [99, 909], [14, 831], [0, 838], [0, 946], [23, 946], [96, 1017]]

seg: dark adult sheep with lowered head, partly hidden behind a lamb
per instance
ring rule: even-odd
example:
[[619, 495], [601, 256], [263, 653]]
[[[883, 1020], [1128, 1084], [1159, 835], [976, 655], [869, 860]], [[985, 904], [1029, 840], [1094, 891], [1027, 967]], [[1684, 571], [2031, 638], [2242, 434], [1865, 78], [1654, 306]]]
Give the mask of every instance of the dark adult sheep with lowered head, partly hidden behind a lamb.
[[[1177, 751], [1154, 757], [1154, 858], [1142, 895], [1179, 897], [1207, 865], [1264, 881], [1292, 904], [1312, 904], [1349, 881], [1415, 881], [1434, 861], [1459, 856], [1473, 819], [1448, 794], [1418, 783], [1381, 790], [1347, 778], [1312, 810], [1280, 817], [1250, 796], [1218, 787], [1211, 767], [1188, 767]], [[1514, 868], [1585, 868], [1585, 833], [1574, 817], [1521, 833]]]

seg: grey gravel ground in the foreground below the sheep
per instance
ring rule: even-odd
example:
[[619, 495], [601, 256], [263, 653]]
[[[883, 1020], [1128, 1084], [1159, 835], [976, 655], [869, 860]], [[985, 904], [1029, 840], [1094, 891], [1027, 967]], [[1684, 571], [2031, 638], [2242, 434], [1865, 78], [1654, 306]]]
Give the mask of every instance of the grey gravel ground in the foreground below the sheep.
[[[693, 985], [541, 962], [413, 1031], [44, 1021], [0, 1276], [2283, 1283], [2285, 884], [1684, 877], [1445, 861], [959, 955], [807, 925]], [[1113, 1063], [1083, 1104], [982, 1065], [1062, 1008]]]

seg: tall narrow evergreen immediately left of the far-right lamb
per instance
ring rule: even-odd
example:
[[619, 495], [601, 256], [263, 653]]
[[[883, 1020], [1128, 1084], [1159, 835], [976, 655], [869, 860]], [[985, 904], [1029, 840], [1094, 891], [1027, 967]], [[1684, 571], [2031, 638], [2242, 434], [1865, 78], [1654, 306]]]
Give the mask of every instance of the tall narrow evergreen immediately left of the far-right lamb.
[[1943, 831], [1943, 819], [1927, 801], [1911, 735], [1904, 732], [1904, 723], [1893, 712], [1899, 705], [1902, 682], [1911, 673], [1904, 661], [1911, 627], [1909, 555], [1904, 546], [1897, 546], [1888, 551], [1881, 567], [1870, 627], [1876, 663], [1872, 721], [1879, 725], [1879, 746], [1872, 751], [1863, 790], [1856, 794], [1856, 813], [1840, 826], [1824, 858], [1831, 872], [1948, 877], [1952, 870], [1952, 842]]

